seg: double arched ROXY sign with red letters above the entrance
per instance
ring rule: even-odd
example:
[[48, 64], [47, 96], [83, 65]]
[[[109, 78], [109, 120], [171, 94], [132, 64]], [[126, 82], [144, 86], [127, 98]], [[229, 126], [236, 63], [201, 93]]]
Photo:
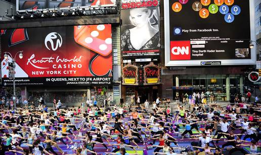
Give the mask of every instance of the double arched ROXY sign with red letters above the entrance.
[[160, 84], [160, 67], [151, 63], [144, 67], [126, 65], [122, 68], [123, 85]]

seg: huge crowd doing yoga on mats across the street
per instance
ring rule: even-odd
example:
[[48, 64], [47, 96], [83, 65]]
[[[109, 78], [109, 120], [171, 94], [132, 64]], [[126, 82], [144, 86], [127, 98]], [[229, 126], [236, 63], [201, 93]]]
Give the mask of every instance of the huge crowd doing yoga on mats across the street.
[[110, 106], [106, 98], [68, 108], [59, 99], [53, 107], [26, 100], [22, 107], [1, 107], [0, 154], [258, 154], [261, 105], [239, 100], [222, 106], [204, 98], [188, 97], [189, 108], [159, 97], [152, 106], [139, 99]]

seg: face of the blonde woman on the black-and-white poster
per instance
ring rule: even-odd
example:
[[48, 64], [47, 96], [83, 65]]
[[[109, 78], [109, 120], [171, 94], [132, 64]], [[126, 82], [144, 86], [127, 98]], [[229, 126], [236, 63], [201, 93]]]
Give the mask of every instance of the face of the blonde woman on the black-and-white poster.
[[149, 22], [149, 10], [144, 8], [132, 9], [129, 11], [129, 19], [133, 25], [142, 27]]

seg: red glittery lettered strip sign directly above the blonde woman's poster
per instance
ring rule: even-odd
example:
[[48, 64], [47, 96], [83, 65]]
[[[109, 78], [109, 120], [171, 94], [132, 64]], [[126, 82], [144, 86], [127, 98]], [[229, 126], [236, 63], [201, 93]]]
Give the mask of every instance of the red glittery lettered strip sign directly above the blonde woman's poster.
[[158, 0], [121, 0], [121, 9], [135, 9], [159, 6]]

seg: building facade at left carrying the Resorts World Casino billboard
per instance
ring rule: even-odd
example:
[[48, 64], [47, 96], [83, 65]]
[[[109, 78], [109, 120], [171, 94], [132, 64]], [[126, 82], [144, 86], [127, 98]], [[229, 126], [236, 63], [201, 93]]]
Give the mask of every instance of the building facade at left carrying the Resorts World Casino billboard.
[[20, 102], [27, 98], [37, 103], [40, 97], [47, 103], [60, 99], [64, 106], [88, 99], [96, 99], [98, 105], [105, 98], [111, 104], [119, 102], [119, 11], [116, 2], [99, 3], [55, 2], [54, 9], [19, 3], [19, 13], [9, 14], [11, 21], [1, 23], [1, 96], [12, 99], [11, 57], [22, 51], [23, 58], [17, 56], [15, 62]]

